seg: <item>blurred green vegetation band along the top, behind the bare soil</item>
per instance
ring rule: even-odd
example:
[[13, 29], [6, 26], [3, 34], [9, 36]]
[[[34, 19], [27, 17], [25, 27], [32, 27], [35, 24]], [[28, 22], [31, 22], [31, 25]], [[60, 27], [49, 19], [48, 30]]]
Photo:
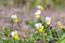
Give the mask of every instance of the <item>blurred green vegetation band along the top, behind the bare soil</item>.
[[46, 9], [65, 6], [65, 0], [0, 0], [0, 5], [25, 5], [27, 3], [30, 8], [37, 6], [37, 4], [42, 4]]

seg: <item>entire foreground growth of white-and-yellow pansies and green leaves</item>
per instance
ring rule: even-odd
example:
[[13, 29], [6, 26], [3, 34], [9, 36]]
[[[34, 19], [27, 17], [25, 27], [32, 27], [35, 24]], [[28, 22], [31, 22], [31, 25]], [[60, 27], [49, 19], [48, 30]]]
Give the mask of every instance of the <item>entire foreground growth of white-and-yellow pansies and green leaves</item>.
[[[65, 43], [65, 28], [62, 22], [57, 22], [56, 28], [53, 29], [50, 24], [52, 22], [51, 17], [43, 18], [41, 16], [44, 8], [42, 5], [37, 6], [35, 12], [36, 20], [26, 20], [26, 25], [30, 25], [34, 29], [29, 31], [27, 38], [23, 38], [21, 33], [15, 30], [4, 27], [3, 31], [0, 31], [0, 43]], [[16, 14], [11, 15], [12, 25], [18, 23], [18, 17]], [[26, 35], [25, 35], [26, 37]]]

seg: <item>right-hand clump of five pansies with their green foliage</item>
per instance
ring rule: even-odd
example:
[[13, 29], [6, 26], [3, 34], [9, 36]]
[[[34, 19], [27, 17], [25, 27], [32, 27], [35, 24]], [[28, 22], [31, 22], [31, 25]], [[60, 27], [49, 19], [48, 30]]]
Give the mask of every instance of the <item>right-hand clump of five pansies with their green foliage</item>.
[[61, 38], [63, 35], [65, 38], [65, 29], [63, 27], [63, 24], [58, 20], [55, 27], [56, 29], [53, 29], [50, 26], [50, 24], [52, 23], [51, 17], [48, 16], [42, 19], [41, 14], [44, 8], [42, 5], [38, 5], [35, 13], [36, 20], [26, 20], [27, 25], [30, 25], [32, 28], [35, 28], [34, 32], [36, 32], [36, 34], [32, 32], [32, 34], [36, 37], [35, 41], [42, 38], [42, 43], [62, 43], [60, 41], [62, 40]]

